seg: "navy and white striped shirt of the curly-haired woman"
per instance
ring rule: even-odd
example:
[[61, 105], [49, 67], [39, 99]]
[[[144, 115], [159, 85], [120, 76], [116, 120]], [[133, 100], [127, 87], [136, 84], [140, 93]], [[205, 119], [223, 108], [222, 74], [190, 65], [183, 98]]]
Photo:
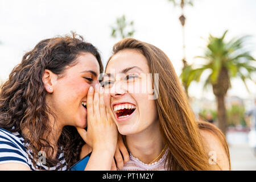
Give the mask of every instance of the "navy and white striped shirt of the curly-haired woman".
[[[46, 158], [44, 158], [45, 153], [39, 152], [38, 162], [36, 163], [36, 167], [34, 167], [32, 161], [32, 151], [27, 150], [26, 146], [28, 144], [24, 143], [24, 138], [18, 132], [10, 133], [5, 129], [0, 128], [0, 164], [4, 163], [20, 163], [29, 167], [31, 170], [56, 170], [60, 163], [63, 164], [63, 168], [58, 170], [67, 170], [67, 163], [64, 159], [63, 151], [58, 152], [56, 159], [60, 161], [56, 166], [48, 167], [46, 165]], [[42, 158], [41, 158], [42, 156]]]

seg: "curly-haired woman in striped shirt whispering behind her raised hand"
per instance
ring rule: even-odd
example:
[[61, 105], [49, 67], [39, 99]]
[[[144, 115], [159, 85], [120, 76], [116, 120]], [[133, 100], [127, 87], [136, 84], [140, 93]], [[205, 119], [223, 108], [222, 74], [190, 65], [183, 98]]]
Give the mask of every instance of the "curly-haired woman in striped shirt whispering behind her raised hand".
[[117, 129], [98, 84], [102, 71], [97, 48], [75, 34], [27, 52], [1, 86], [0, 169], [65, 170], [90, 151], [85, 170], [110, 169]]

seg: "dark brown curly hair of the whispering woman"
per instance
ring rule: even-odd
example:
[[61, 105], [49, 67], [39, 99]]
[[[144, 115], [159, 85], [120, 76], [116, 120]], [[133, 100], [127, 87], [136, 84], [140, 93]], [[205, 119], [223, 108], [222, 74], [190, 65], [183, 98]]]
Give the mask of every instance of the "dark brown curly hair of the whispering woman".
[[[24, 142], [28, 143], [27, 150], [32, 150], [34, 167], [42, 148], [47, 151], [47, 166], [59, 163], [59, 160], [52, 159], [53, 146], [46, 136], [51, 133], [49, 117], [56, 117], [46, 104], [47, 92], [42, 81], [44, 70], [48, 69], [61, 76], [67, 66], [76, 64], [76, 57], [81, 52], [92, 53], [100, 65], [100, 73], [103, 72], [97, 48], [72, 32], [72, 36], [57, 36], [40, 41], [32, 51], [25, 53], [22, 62], [14, 67], [9, 79], [1, 85], [0, 127], [19, 133], [23, 129], [28, 130], [28, 136], [23, 137]], [[57, 146], [63, 148], [67, 167], [79, 160], [84, 143], [75, 127], [63, 128]], [[62, 167], [60, 164], [56, 169]]]

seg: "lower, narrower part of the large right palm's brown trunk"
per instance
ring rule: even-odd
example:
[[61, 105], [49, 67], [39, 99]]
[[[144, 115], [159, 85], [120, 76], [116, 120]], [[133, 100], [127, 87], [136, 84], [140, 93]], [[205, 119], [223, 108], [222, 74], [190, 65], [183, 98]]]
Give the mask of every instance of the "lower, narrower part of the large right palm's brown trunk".
[[226, 134], [226, 107], [225, 107], [225, 96], [216, 96], [217, 107], [218, 107], [218, 127], [222, 133]]

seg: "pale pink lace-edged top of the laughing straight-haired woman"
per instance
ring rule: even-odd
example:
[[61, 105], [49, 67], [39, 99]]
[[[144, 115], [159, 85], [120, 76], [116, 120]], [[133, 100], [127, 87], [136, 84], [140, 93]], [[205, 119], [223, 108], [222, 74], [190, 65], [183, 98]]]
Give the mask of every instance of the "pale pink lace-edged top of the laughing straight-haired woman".
[[130, 153], [130, 160], [123, 165], [121, 171], [166, 171], [167, 168], [164, 167], [164, 163], [166, 162], [167, 153], [168, 150], [164, 152], [160, 160], [152, 164], [145, 164]]

